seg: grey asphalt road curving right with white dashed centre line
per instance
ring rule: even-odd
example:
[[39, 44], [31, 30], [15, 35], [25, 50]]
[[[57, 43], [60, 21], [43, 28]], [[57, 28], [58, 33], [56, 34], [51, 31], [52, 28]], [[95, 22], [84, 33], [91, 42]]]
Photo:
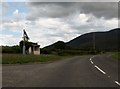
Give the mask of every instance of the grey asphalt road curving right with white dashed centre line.
[[110, 55], [76, 56], [52, 63], [3, 65], [3, 87], [118, 87]]

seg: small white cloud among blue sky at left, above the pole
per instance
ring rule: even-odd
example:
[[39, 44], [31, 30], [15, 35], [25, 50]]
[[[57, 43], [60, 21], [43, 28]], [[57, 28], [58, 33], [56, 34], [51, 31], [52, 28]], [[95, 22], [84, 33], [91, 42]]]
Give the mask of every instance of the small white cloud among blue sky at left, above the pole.
[[26, 13], [19, 12], [18, 9], [12, 12], [10, 17], [3, 16], [2, 30], [9, 30], [11, 32], [20, 32], [30, 21], [25, 20]]

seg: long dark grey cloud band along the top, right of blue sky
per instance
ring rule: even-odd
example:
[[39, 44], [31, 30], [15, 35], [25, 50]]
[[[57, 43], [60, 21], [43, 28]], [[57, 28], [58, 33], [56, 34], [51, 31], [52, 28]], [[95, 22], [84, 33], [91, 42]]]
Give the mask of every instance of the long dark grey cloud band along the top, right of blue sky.
[[117, 18], [117, 2], [29, 2], [32, 9], [28, 19], [39, 17], [61, 18], [71, 14], [92, 14], [97, 18]]

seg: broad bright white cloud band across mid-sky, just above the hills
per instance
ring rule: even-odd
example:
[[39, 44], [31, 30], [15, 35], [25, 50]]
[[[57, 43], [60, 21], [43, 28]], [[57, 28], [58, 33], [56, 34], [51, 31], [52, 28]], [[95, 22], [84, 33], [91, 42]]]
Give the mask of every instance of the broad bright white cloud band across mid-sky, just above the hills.
[[[104, 23], [104, 24], [103, 24]], [[76, 25], [77, 24], [77, 25]], [[39, 18], [36, 21], [21, 20], [3, 24], [4, 30], [9, 28], [11, 32], [19, 32], [21, 36], [3, 40], [3, 44], [18, 44], [22, 37], [22, 29], [25, 28], [30, 41], [38, 42], [41, 47], [50, 45], [58, 40], [69, 41], [81, 34], [91, 31], [105, 31], [117, 27], [117, 19], [105, 20], [92, 15], [78, 14], [68, 18]]]

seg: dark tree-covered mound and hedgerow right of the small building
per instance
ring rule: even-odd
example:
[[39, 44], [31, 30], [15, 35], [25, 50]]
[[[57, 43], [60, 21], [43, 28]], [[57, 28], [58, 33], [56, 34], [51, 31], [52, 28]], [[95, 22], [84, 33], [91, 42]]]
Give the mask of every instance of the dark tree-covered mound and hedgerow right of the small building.
[[93, 49], [72, 49], [67, 46], [64, 42], [58, 41], [50, 46], [44, 47], [41, 49], [42, 54], [56, 54], [60, 56], [65, 55], [88, 55], [88, 54], [97, 54], [100, 51], [95, 51]]

